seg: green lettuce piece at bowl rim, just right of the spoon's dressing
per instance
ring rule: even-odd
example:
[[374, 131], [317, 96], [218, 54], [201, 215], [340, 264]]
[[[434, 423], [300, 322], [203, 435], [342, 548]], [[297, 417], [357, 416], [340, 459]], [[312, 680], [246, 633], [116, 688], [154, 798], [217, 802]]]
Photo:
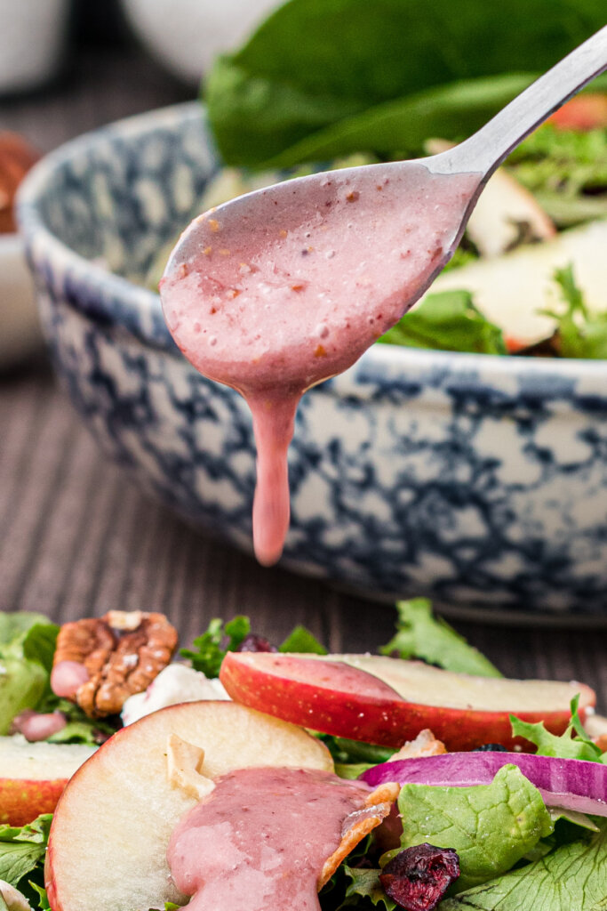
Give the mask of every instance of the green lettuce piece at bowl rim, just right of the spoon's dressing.
[[467, 291], [429, 294], [379, 342], [434, 351], [508, 353], [501, 329], [485, 319]]

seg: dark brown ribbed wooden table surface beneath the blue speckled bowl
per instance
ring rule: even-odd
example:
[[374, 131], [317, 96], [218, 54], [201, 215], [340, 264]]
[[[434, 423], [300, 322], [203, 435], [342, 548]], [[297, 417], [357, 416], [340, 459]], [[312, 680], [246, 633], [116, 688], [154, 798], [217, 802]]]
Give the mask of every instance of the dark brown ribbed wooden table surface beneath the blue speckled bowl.
[[[134, 49], [87, 53], [35, 97], [0, 100], [0, 129], [43, 151], [87, 129], [187, 100]], [[1, 326], [0, 326], [1, 331]], [[394, 611], [193, 532], [108, 464], [44, 356], [0, 375], [0, 609], [62, 621], [107, 609], [165, 611], [182, 644], [212, 617], [248, 614], [272, 640], [304, 623], [331, 650], [374, 650]], [[507, 674], [587, 681], [607, 711], [607, 632], [453, 621]]]

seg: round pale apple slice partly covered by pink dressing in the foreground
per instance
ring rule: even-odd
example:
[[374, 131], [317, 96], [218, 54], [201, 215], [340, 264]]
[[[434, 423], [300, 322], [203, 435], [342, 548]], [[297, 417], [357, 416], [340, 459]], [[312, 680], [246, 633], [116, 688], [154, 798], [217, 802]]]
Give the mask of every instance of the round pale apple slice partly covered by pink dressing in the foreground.
[[245, 766], [333, 770], [316, 738], [235, 702], [172, 705], [129, 724], [76, 773], [57, 806], [46, 861], [54, 911], [185, 903], [169, 878], [166, 852], [197, 798], [169, 782], [167, 745], [176, 736], [204, 751], [200, 771], [210, 778]]

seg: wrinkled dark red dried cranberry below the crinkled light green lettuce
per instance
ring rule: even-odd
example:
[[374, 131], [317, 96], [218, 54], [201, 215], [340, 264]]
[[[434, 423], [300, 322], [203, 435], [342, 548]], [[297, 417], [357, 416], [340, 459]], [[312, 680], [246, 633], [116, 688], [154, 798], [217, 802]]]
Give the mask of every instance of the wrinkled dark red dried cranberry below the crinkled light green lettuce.
[[405, 911], [432, 911], [459, 875], [460, 858], [452, 848], [416, 844], [392, 857], [379, 882]]

